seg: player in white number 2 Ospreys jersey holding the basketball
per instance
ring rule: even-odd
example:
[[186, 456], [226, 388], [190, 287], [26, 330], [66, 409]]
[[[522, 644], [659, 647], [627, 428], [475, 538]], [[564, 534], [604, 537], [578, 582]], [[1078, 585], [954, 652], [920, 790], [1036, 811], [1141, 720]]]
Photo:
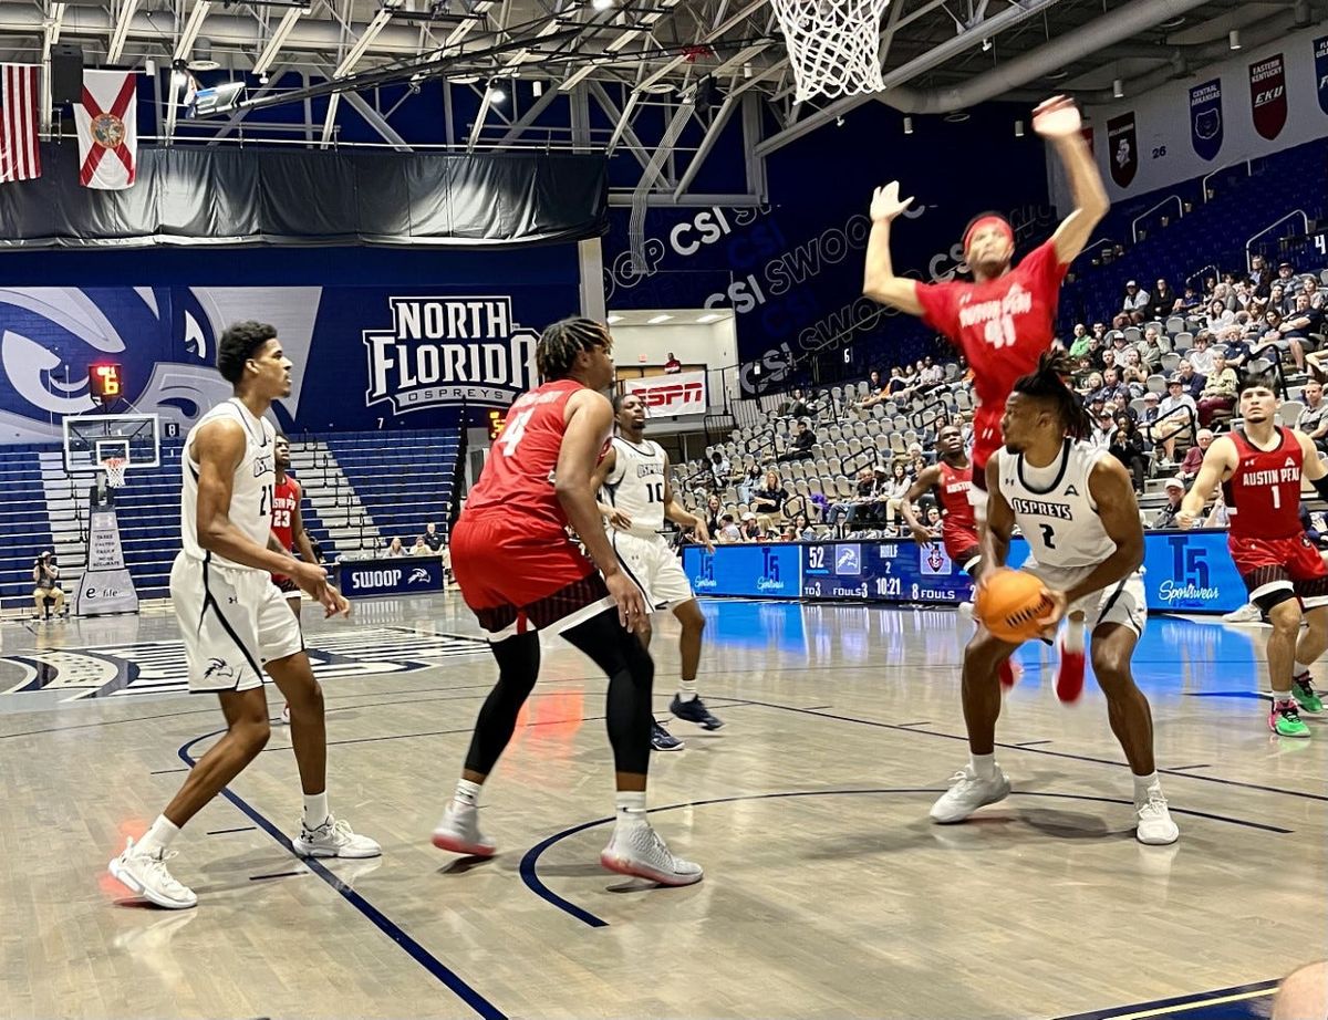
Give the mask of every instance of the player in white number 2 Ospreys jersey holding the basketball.
[[[1092, 422], [1061, 380], [1068, 372], [1064, 356], [1049, 353], [1036, 372], [1015, 382], [1001, 418], [1005, 448], [987, 465], [991, 498], [980, 530], [983, 563], [1004, 566], [1017, 525], [1031, 547], [1023, 568], [1045, 583], [1053, 603], [1040, 620], [1044, 634], [1054, 634], [1066, 615], [1088, 618], [1093, 672], [1106, 696], [1112, 732], [1134, 773], [1135, 837], [1141, 843], [1173, 843], [1178, 830], [1153, 761], [1153, 716], [1130, 673], [1147, 612], [1134, 485], [1120, 461], [1084, 441]], [[1017, 647], [979, 627], [964, 651], [971, 760], [932, 806], [936, 822], [960, 822], [1009, 793], [995, 757], [1001, 705], [996, 673]]]

